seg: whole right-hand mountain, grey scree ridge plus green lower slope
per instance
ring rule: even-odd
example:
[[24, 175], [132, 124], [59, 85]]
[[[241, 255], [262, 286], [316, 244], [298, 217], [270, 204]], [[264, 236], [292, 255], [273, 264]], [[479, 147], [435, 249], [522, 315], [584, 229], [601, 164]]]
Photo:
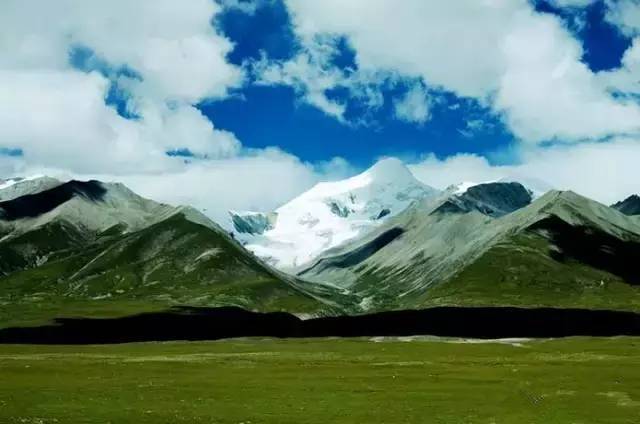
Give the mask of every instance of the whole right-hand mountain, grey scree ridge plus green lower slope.
[[635, 220], [571, 192], [552, 191], [527, 205], [526, 189], [517, 187], [479, 185], [474, 192], [486, 196], [465, 191], [413, 205], [299, 275], [340, 285], [364, 310], [640, 308]]

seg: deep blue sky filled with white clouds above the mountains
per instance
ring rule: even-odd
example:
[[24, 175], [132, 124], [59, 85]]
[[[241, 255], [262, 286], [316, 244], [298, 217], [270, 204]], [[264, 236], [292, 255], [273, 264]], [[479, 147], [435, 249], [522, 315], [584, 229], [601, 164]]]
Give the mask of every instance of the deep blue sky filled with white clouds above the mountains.
[[395, 156], [436, 188], [640, 192], [637, 0], [5, 0], [0, 177], [271, 210]]

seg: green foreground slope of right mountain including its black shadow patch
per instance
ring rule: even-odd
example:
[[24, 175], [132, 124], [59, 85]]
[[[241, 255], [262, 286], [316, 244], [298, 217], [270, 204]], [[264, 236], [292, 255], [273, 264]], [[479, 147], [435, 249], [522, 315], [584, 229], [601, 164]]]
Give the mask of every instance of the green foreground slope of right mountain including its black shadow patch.
[[416, 304], [640, 310], [631, 257], [640, 257], [640, 244], [550, 219], [500, 241]]

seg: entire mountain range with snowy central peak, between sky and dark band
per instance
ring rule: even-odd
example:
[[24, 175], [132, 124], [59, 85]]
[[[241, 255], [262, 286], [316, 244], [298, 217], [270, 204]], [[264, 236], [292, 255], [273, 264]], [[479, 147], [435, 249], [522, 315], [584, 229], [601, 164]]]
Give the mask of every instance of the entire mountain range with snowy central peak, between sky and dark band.
[[431, 306], [640, 309], [640, 198], [440, 191], [386, 159], [228, 232], [119, 183], [0, 184], [0, 327], [176, 305], [299, 316]]

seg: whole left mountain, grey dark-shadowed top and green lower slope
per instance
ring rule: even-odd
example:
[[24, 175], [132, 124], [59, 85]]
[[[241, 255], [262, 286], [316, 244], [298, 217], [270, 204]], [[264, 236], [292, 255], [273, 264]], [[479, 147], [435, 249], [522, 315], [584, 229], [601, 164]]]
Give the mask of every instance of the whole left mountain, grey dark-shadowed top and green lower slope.
[[[171, 305], [322, 313], [322, 286], [281, 274], [188, 207], [69, 181], [0, 202], [0, 321]], [[101, 312], [102, 311], [102, 312]]]

